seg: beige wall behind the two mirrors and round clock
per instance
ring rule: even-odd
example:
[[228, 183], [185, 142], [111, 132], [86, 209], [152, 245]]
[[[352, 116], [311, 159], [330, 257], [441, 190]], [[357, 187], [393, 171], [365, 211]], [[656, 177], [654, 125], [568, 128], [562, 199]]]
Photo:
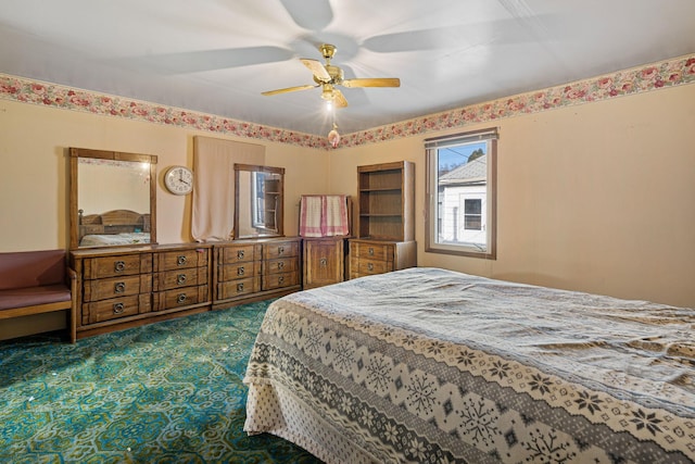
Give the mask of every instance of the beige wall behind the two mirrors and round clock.
[[[68, 147], [156, 154], [157, 240], [189, 241], [191, 198], [167, 193], [162, 175], [173, 164], [192, 167], [195, 135], [217, 136], [0, 100], [0, 252], [68, 248]], [[285, 227], [296, 235], [300, 195], [329, 188], [326, 151], [253, 142], [266, 146], [268, 165], [287, 170]], [[61, 328], [64, 321], [61, 313], [3, 319], [0, 339]]]

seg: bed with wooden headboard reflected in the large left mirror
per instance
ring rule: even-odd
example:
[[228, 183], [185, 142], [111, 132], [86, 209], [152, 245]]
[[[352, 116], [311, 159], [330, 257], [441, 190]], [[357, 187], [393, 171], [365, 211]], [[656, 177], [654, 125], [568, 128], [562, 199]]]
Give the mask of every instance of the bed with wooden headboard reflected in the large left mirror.
[[113, 210], [84, 215], [79, 211], [79, 246], [109, 247], [150, 242], [150, 214]]

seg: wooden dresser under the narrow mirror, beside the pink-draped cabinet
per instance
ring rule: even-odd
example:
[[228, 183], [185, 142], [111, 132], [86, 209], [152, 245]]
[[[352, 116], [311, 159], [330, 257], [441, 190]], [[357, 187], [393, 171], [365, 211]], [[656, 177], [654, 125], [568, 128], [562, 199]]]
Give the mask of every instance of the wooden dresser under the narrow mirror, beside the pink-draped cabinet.
[[215, 243], [213, 309], [301, 290], [300, 251], [296, 237]]

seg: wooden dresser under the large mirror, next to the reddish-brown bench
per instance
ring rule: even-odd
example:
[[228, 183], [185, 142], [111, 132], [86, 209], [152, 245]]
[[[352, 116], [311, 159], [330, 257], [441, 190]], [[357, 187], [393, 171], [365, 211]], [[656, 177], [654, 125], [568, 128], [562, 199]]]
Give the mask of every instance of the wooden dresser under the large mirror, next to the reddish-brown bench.
[[212, 302], [210, 244], [80, 249], [77, 338], [207, 311]]

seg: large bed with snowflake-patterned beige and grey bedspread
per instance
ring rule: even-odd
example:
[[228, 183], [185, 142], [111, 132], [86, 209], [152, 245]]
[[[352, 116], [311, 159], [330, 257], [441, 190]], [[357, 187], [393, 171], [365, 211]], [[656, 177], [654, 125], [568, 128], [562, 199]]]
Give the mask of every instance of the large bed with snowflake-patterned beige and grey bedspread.
[[416, 267], [274, 301], [250, 435], [327, 463], [692, 463], [695, 310]]

